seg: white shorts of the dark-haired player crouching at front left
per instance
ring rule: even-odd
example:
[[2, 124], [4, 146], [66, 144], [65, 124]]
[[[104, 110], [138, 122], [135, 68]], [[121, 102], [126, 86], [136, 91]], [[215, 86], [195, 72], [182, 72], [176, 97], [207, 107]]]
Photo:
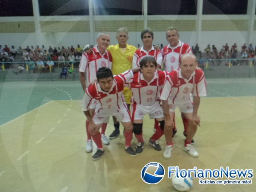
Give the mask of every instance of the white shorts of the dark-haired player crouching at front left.
[[[96, 109], [95, 111], [98, 110]], [[131, 122], [130, 112], [128, 111], [125, 103], [124, 105], [121, 105], [119, 112], [116, 113], [109, 113], [108, 111], [100, 110], [99, 113], [95, 113], [93, 116], [93, 122], [95, 124], [108, 123], [110, 116], [115, 116], [116, 120], [119, 122]]]

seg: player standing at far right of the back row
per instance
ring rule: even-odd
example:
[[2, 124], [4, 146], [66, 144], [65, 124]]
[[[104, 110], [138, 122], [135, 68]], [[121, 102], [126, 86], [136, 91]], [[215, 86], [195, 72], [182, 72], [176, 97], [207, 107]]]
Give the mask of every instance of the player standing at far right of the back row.
[[[168, 45], [165, 46], [162, 50], [163, 61], [164, 61], [164, 70], [173, 71], [177, 70], [180, 65], [180, 58], [183, 54], [192, 53], [189, 44], [185, 44], [179, 40], [180, 35], [178, 30], [175, 27], [169, 27], [166, 30], [166, 39], [168, 41]], [[181, 113], [183, 125], [184, 125], [184, 136], [186, 137], [186, 129], [188, 127], [188, 119]], [[177, 129], [175, 126], [175, 118], [174, 118], [174, 129], [173, 129], [173, 137], [176, 134]], [[194, 144], [194, 140], [192, 140], [192, 144]]]

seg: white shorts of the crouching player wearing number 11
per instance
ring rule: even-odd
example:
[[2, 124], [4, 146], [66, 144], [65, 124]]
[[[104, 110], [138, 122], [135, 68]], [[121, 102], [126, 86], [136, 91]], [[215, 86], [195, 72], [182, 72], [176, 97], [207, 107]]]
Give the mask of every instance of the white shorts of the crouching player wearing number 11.
[[143, 119], [145, 114], [149, 114], [150, 119], [163, 118], [163, 109], [159, 102], [155, 102], [153, 105], [145, 106], [140, 104], [131, 105], [131, 119], [140, 120]]

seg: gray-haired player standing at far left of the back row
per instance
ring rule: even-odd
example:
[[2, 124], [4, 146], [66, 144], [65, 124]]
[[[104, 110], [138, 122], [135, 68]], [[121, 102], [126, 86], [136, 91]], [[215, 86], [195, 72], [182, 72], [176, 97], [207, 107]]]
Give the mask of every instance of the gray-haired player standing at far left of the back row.
[[[79, 64], [79, 78], [83, 90], [86, 90], [86, 87], [89, 86], [93, 80], [96, 79], [96, 72], [100, 67], [112, 67], [112, 57], [111, 54], [106, 50], [110, 43], [110, 36], [105, 32], [100, 32], [97, 36], [97, 45], [93, 48], [90, 53], [84, 52]], [[85, 80], [86, 76], [86, 80]], [[96, 101], [90, 106], [90, 113], [93, 114], [96, 108]], [[87, 145], [86, 152], [93, 151], [93, 143], [91, 134], [88, 131], [89, 121], [86, 121], [86, 132], [87, 132]], [[105, 130], [107, 128], [107, 123], [102, 125], [102, 142], [104, 145], [109, 144], [109, 140], [105, 136]]]

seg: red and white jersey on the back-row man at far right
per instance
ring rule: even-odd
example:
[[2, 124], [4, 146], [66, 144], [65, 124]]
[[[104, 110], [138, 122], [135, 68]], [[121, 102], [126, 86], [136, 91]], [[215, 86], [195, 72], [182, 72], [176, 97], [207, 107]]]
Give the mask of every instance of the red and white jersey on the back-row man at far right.
[[177, 70], [180, 66], [181, 56], [189, 52], [192, 53], [189, 44], [185, 44], [181, 41], [179, 41], [176, 47], [171, 47], [170, 44], [166, 45], [166, 47], [162, 49], [163, 61], [165, 63], [164, 70]]

